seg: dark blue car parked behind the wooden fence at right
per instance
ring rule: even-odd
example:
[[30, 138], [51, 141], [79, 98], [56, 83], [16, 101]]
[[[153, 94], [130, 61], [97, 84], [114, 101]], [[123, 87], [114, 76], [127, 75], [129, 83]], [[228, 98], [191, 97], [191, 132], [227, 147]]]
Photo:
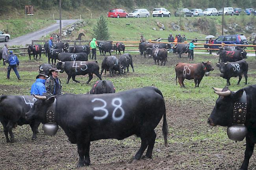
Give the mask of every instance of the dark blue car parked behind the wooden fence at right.
[[[206, 42], [208, 43], [208, 42]], [[214, 44], [248, 44], [246, 37], [243, 34], [236, 35], [222, 35], [213, 40]], [[219, 45], [204, 45], [205, 48], [211, 47], [213, 49], [218, 49]]]

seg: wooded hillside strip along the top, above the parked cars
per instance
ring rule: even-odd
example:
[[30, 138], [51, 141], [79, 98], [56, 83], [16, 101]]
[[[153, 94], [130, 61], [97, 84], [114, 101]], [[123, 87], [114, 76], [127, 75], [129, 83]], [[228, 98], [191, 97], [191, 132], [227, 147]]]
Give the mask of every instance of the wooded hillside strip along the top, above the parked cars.
[[[34, 5], [37, 9], [52, 9], [58, 7], [59, 0], [1, 0], [0, 15], [4, 15], [7, 11], [16, 9], [24, 9], [24, 5]], [[168, 10], [175, 10], [178, 7], [186, 8], [202, 8], [215, 7], [220, 9], [222, 0], [61, 0], [64, 10], [87, 9], [86, 11], [108, 11], [110, 8], [122, 7], [126, 10], [145, 7], [152, 10], [154, 7], [163, 6]], [[224, 6], [255, 8], [256, 0], [224, 0]]]

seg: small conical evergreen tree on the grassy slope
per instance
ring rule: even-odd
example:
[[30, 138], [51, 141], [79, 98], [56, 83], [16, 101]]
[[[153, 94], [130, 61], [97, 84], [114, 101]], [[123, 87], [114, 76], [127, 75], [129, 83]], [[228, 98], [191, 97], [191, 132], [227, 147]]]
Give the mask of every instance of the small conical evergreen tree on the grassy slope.
[[108, 24], [103, 15], [100, 15], [100, 18], [98, 18], [97, 25], [95, 25], [93, 30], [94, 30], [93, 37], [95, 37], [97, 40], [109, 39]]

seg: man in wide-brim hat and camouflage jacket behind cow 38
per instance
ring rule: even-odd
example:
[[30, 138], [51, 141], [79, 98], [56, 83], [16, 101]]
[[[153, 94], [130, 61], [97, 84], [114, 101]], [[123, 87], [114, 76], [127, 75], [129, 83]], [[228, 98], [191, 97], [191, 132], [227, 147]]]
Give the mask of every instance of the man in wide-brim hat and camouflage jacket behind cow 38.
[[52, 67], [52, 69], [50, 69], [50, 77], [47, 78], [45, 82], [46, 92], [51, 96], [62, 94], [61, 81], [58, 78], [59, 72], [59, 69], [57, 69], [56, 67]]

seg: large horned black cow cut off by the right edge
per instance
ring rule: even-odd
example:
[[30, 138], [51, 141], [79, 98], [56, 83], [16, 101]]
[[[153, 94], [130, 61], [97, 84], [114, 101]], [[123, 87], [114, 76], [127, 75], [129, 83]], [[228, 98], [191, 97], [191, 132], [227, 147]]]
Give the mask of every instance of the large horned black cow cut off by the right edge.
[[[247, 128], [246, 139], [246, 149], [243, 164], [240, 170], [247, 170], [249, 165], [250, 157], [252, 156], [254, 145], [256, 143], [256, 85], [248, 86], [237, 92], [232, 92], [228, 90], [227, 87], [224, 89], [218, 89], [215, 91], [219, 95], [216, 101], [215, 107], [211, 111], [211, 115], [208, 118], [208, 123], [211, 126], [220, 125], [223, 127], [230, 127], [233, 125], [233, 116], [235, 110], [235, 103], [239, 102], [243, 93], [246, 93], [247, 100], [247, 113], [245, 119], [245, 127]], [[236, 105], [237, 106], [237, 105]], [[243, 108], [243, 107], [242, 107]], [[241, 108], [241, 110], [243, 110]], [[239, 109], [240, 110], [240, 109]], [[237, 116], [238, 117], [238, 116]], [[236, 118], [237, 118], [236, 117]], [[239, 148], [239, 151], [241, 148]], [[238, 150], [232, 150], [231, 152], [238, 152]], [[236, 169], [235, 167], [231, 169]]]

